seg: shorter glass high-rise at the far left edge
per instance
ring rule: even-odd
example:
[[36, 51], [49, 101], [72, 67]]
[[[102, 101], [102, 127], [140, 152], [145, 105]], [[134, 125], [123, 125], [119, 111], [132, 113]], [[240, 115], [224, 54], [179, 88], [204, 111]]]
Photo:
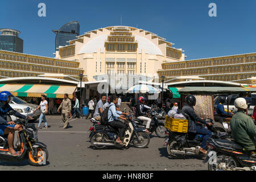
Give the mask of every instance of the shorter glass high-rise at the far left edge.
[[0, 29], [0, 49], [12, 52], [23, 52], [23, 40], [18, 37], [20, 31], [10, 28]]

